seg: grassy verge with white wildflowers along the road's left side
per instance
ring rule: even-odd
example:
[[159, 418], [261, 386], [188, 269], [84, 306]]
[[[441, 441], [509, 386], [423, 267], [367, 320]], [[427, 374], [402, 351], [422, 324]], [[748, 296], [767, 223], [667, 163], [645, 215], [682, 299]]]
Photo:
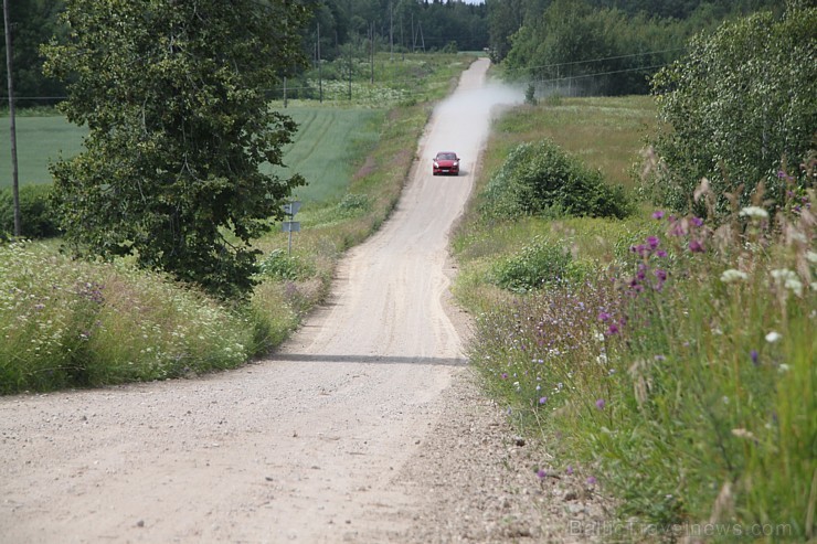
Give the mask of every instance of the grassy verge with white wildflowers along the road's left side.
[[[352, 173], [347, 190], [337, 196], [336, 186], [298, 214], [303, 230], [291, 256], [275, 228], [257, 242], [262, 282], [247, 307], [217, 305], [126, 260], [72, 260], [59, 253], [59, 241], [0, 244], [0, 393], [194, 375], [268, 353], [326, 296], [343, 252], [389, 216], [434, 100], [471, 60], [423, 57], [428, 102], [410, 99], [380, 114], [376, 138], [344, 158]], [[321, 148], [312, 148], [321, 162]]]

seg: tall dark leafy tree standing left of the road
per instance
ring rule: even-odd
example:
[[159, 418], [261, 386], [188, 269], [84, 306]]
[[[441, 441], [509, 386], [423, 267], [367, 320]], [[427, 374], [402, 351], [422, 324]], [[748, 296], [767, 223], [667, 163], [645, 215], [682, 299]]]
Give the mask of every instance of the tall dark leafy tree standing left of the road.
[[62, 110], [89, 129], [51, 169], [73, 248], [245, 296], [252, 239], [304, 182], [259, 167], [296, 130], [265, 89], [301, 61], [306, 17], [287, 0], [67, 0], [67, 39], [44, 53], [68, 82]]

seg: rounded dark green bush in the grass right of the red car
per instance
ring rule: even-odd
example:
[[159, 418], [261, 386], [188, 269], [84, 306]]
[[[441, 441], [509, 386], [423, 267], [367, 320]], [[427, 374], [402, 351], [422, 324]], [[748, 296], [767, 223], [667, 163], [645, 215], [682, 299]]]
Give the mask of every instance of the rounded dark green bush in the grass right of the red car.
[[604, 182], [552, 140], [514, 148], [481, 195], [480, 213], [487, 217], [522, 215], [618, 217], [629, 214], [620, 186]]

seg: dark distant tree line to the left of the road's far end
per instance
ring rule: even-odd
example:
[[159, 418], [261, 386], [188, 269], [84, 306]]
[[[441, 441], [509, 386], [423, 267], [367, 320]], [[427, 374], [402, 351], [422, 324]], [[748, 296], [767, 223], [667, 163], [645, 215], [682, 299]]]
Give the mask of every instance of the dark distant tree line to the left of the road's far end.
[[[301, 50], [311, 62], [282, 76], [306, 76], [318, 62], [348, 55], [367, 57], [372, 49], [391, 52], [482, 51], [488, 46], [486, 4], [459, 0], [301, 0], [309, 17], [299, 26]], [[65, 40], [68, 29], [59, 15], [65, 0], [14, 0], [10, 7], [13, 36], [14, 94], [19, 107], [53, 105], [66, 96], [65, 83], [43, 75], [43, 44]], [[147, 9], [147, 3], [145, 4]], [[0, 57], [6, 58], [4, 41]], [[7, 79], [6, 63], [0, 78]], [[289, 72], [289, 73], [287, 73]], [[331, 74], [330, 74], [331, 76]], [[6, 92], [0, 95], [6, 96]]]

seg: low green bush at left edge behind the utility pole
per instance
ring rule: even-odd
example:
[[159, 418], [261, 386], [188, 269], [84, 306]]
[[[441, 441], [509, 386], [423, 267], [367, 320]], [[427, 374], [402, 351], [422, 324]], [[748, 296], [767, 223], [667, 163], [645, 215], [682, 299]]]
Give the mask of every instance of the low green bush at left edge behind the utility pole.
[[[49, 201], [51, 185], [23, 185], [19, 194], [21, 236], [49, 238], [60, 234]], [[0, 191], [0, 232], [14, 232], [14, 198], [11, 188]]]

